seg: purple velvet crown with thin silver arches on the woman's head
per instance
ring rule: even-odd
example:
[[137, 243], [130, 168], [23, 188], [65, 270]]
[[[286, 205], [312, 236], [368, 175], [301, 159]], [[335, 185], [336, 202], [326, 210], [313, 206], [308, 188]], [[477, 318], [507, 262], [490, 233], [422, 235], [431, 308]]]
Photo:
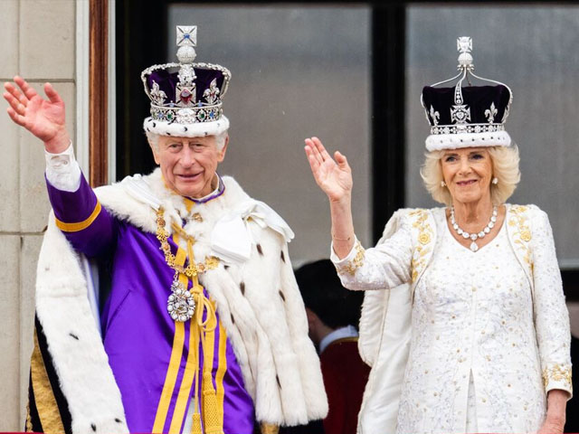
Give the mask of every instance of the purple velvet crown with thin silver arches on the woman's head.
[[[488, 80], [474, 73], [472, 40], [468, 36], [457, 39], [459, 74], [449, 80], [425, 86], [422, 107], [431, 124], [426, 137], [426, 149], [456, 149], [471, 146], [509, 146], [510, 136], [505, 130], [513, 93], [504, 83]], [[470, 76], [489, 82], [488, 86], [471, 86]], [[437, 88], [457, 80], [453, 88]], [[463, 86], [464, 80], [468, 86]]]

